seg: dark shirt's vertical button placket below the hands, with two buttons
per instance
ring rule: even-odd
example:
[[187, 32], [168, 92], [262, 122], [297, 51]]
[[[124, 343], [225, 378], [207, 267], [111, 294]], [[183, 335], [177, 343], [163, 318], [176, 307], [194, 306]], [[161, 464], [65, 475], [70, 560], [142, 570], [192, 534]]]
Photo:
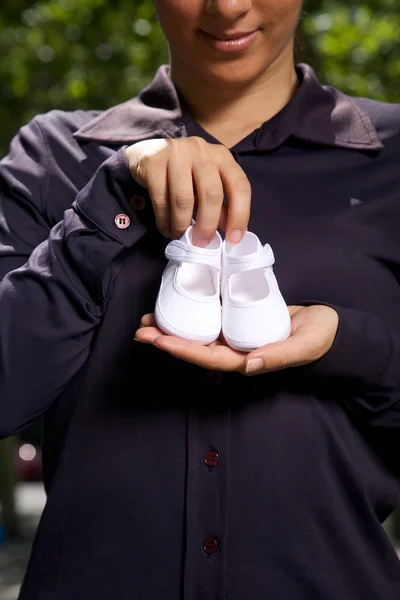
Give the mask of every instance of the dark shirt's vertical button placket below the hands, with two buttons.
[[221, 406], [224, 379], [207, 372], [204, 403], [188, 414], [184, 600], [225, 597], [230, 411]]

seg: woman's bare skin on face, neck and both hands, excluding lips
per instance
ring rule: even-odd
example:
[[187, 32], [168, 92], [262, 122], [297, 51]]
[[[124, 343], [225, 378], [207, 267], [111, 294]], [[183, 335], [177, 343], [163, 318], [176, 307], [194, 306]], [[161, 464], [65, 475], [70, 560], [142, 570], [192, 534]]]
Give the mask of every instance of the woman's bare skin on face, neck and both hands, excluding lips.
[[[200, 138], [147, 140], [127, 149], [132, 176], [149, 189], [156, 222], [179, 237], [191, 224], [205, 246], [218, 226], [237, 243], [247, 229], [251, 189], [229, 148], [277, 114], [296, 91], [293, 46], [302, 0], [154, 0], [168, 41], [170, 77], [195, 119], [221, 145]], [[260, 29], [255, 43], [221, 53], [199, 37], [226, 30]], [[142, 144], [140, 146], [140, 144]], [[195, 188], [193, 186], [195, 183]], [[227, 191], [228, 208], [222, 206]], [[210, 346], [165, 335], [145, 315], [135, 339], [203, 368], [256, 375], [309, 364], [332, 347], [339, 317], [328, 306], [290, 306], [290, 337], [248, 354], [223, 337]]]

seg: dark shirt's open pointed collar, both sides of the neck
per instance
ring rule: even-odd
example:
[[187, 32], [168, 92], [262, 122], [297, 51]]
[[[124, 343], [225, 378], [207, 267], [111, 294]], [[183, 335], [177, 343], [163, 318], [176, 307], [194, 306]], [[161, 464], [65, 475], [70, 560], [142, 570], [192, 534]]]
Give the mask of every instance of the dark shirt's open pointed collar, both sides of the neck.
[[[254, 135], [242, 140], [240, 151], [273, 150], [292, 136], [323, 146], [374, 151], [383, 148], [368, 113], [356, 99], [321, 85], [312, 67], [305, 63], [297, 64], [296, 71], [299, 87], [292, 99]], [[182, 137], [188, 134], [190, 121], [195, 123], [169, 77], [168, 65], [161, 65], [138, 96], [102, 112], [74, 137], [104, 144], [132, 144], [156, 137]]]

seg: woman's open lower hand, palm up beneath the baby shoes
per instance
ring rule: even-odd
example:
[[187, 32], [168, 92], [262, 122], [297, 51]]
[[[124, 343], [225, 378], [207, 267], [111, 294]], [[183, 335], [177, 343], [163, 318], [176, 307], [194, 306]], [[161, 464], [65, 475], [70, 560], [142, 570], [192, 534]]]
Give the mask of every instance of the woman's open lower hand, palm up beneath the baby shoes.
[[164, 334], [152, 314], [145, 315], [135, 340], [153, 344], [176, 358], [217, 371], [258, 375], [298, 367], [321, 358], [332, 347], [339, 325], [337, 312], [325, 305], [289, 306], [292, 331], [283, 342], [273, 342], [250, 353], [228, 346], [221, 336], [209, 346]]

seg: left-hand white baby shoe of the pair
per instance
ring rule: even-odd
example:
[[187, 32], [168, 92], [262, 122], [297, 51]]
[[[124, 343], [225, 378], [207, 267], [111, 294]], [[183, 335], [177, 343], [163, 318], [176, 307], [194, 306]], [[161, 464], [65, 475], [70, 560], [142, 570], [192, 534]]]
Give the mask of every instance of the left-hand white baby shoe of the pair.
[[193, 225], [165, 249], [154, 317], [165, 333], [211, 344], [221, 333], [220, 270], [222, 239], [217, 232], [206, 248], [192, 244]]

